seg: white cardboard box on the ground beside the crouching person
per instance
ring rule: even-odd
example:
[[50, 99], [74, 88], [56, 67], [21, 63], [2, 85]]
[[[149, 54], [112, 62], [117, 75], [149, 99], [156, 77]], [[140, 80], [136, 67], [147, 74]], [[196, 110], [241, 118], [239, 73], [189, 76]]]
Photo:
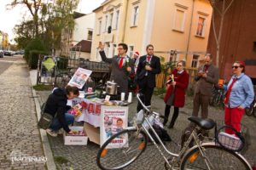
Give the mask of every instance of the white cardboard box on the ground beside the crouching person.
[[[83, 131], [84, 127], [69, 127], [74, 131]], [[65, 145], [86, 145], [88, 136], [67, 136], [67, 133], [63, 133]]]

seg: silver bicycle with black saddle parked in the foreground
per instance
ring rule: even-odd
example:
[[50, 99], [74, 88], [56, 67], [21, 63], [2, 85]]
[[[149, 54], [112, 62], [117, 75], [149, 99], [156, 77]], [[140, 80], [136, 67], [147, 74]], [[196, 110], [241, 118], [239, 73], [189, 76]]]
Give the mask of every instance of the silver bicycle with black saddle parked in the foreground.
[[[137, 94], [137, 99], [143, 105], [139, 94]], [[202, 129], [210, 130], [216, 125], [211, 119], [189, 117], [189, 121], [195, 123], [195, 128], [190, 133], [189, 139], [183, 144], [182, 149], [176, 154], [168, 150], [160, 140], [148, 120], [149, 116], [156, 117], [160, 116], [160, 114], [149, 110], [147, 106], [143, 105], [143, 115], [137, 114], [137, 121], [134, 122], [134, 127], [127, 127], [102, 144], [96, 156], [97, 166], [105, 170], [117, 170], [129, 166], [146, 150], [149, 138], [165, 160], [166, 169], [252, 169], [247, 160], [238, 152], [224, 148], [215, 141], [207, 143], [201, 141], [200, 138], [203, 136], [198, 132]], [[145, 127], [145, 122], [148, 128]], [[159, 140], [159, 145], [156, 144], [148, 129], [151, 129], [156, 139]], [[116, 138], [124, 139], [125, 144], [119, 144], [119, 147], [108, 149], [108, 144], [116, 142]], [[194, 141], [195, 145], [189, 148], [191, 141]], [[161, 148], [172, 157], [166, 157]]]

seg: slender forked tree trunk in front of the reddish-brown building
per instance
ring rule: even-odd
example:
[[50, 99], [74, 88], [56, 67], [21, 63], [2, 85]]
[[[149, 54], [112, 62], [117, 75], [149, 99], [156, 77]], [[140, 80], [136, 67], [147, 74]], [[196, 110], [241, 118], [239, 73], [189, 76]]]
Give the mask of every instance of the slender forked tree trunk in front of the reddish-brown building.
[[[217, 2], [218, 1], [218, 2]], [[223, 31], [224, 25], [224, 15], [230, 8], [231, 4], [234, 0], [209, 0], [212, 5], [212, 31], [216, 42], [216, 65], [219, 65], [219, 49], [220, 49], [220, 41]], [[228, 5], [226, 5], [228, 3]], [[216, 31], [216, 23], [215, 23], [215, 15], [220, 15], [220, 23], [218, 28], [218, 34]]]

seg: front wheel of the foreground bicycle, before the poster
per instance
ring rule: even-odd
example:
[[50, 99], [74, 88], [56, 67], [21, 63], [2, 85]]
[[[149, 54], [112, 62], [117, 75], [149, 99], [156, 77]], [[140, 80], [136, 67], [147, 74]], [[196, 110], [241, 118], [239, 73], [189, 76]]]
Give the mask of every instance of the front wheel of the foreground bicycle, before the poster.
[[[127, 139], [125, 144], [115, 145], [119, 139]], [[146, 149], [148, 136], [143, 131], [137, 133], [137, 129], [125, 129], [110, 137], [98, 151], [96, 162], [101, 169], [122, 169], [130, 165]]]

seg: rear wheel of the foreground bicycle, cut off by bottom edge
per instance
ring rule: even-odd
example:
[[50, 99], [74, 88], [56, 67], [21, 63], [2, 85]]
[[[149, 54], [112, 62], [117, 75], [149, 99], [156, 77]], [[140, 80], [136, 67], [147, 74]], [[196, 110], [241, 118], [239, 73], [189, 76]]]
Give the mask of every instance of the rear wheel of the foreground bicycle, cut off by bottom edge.
[[[236, 152], [225, 150], [215, 144], [202, 144], [204, 156], [198, 147], [189, 150], [183, 157], [181, 169], [251, 169], [245, 158]], [[207, 164], [210, 168], [207, 167]]]

